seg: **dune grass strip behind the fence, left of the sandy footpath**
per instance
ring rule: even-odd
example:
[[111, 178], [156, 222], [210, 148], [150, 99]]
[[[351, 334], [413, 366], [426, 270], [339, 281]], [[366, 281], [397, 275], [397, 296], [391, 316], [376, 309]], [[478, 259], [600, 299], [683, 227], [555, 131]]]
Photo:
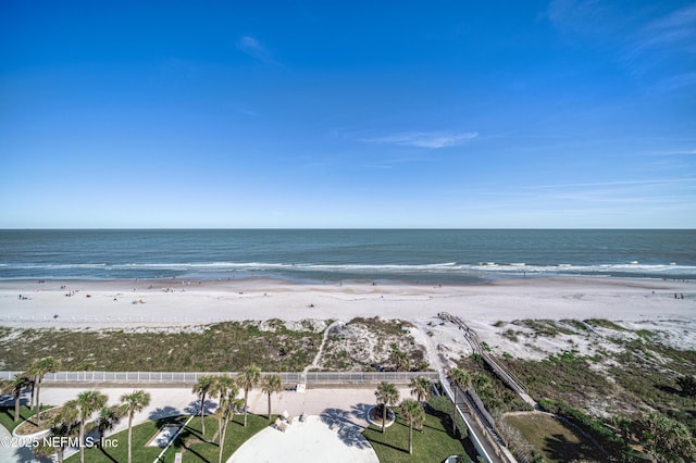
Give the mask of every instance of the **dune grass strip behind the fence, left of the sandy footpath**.
[[[266, 322], [266, 325], [269, 322]], [[234, 372], [256, 362], [263, 371], [296, 372], [312, 363], [322, 333], [278, 323], [225, 322], [195, 330], [69, 330], [0, 328], [2, 367], [21, 371], [52, 356], [64, 371]]]

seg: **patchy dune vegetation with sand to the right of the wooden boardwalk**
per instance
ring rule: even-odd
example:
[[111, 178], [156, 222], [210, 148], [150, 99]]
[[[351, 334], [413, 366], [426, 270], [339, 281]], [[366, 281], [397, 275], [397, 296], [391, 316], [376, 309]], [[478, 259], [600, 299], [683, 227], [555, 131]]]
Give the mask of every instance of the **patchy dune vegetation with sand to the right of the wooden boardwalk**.
[[[606, 347], [597, 349], [594, 355], [563, 350], [540, 361], [511, 358], [500, 361], [545, 410], [580, 426], [614, 456], [629, 459], [635, 453], [613, 430], [616, 423], [633, 421], [646, 410], [675, 420], [696, 433], [696, 398], [684, 393], [678, 384], [681, 376], [696, 374], [696, 350], [670, 346], [659, 331], [631, 330], [599, 320], [586, 323], [621, 333], [602, 337]], [[487, 397], [482, 399], [487, 408], [496, 409]], [[598, 404], [605, 404], [605, 414], [596, 412]], [[569, 436], [563, 437], [562, 433], [556, 437], [544, 435], [544, 426], [538, 426], [540, 430], [535, 434], [532, 422], [530, 429], [521, 423], [515, 427], [549, 461], [562, 461], [558, 455], [570, 451], [563, 447]]]

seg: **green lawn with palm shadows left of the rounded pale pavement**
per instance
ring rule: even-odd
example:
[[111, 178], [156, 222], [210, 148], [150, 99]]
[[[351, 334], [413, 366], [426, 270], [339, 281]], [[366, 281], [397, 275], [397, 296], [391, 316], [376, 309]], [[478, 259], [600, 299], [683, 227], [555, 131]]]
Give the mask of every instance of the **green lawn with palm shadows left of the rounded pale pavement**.
[[[162, 449], [159, 447], [146, 447], [146, 443], [157, 434], [158, 429], [167, 423], [184, 424], [188, 420], [187, 415], [174, 416], [162, 420], [150, 421], [133, 428], [133, 461], [151, 462]], [[225, 449], [223, 461], [226, 461], [235, 450], [251, 436], [269, 425], [265, 416], [249, 415], [248, 426], [244, 427], [244, 416], [235, 416], [235, 421], [229, 423], [225, 437]], [[217, 421], [213, 416], [206, 417], [206, 436], [201, 435], [200, 417], [195, 417], [176, 439], [174, 445], [164, 455], [165, 462], [173, 462], [176, 452], [184, 454], [186, 462], [217, 462], [219, 446], [213, 443], [213, 436], [217, 431]], [[109, 437], [115, 447], [94, 448], [85, 451], [85, 461], [88, 462], [126, 462], [128, 455], [128, 434], [127, 430]], [[77, 461], [76, 454], [69, 461]]]

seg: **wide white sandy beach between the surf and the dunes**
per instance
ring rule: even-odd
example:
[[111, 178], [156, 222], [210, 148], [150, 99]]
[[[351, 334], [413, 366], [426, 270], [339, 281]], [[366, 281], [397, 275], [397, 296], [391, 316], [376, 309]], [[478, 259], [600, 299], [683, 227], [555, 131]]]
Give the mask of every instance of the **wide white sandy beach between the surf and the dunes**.
[[691, 321], [696, 315], [696, 283], [597, 277], [518, 278], [462, 286], [302, 285], [272, 279], [0, 283], [0, 324], [12, 327], [181, 327], [221, 321], [348, 321], [375, 315], [418, 323], [438, 312], [474, 323]]

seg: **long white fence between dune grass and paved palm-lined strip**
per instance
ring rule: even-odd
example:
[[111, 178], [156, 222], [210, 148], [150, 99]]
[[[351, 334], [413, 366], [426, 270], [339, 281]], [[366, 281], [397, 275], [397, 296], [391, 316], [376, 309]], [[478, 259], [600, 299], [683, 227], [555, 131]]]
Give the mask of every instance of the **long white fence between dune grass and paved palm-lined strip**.
[[[0, 379], [12, 379], [22, 372], [0, 372]], [[415, 376], [437, 380], [436, 372], [283, 372], [278, 374], [284, 384], [296, 385], [372, 385], [381, 381], [408, 384]], [[201, 376], [236, 376], [236, 372], [58, 372], [48, 373], [42, 383], [58, 384], [166, 384], [192, 385]]]

